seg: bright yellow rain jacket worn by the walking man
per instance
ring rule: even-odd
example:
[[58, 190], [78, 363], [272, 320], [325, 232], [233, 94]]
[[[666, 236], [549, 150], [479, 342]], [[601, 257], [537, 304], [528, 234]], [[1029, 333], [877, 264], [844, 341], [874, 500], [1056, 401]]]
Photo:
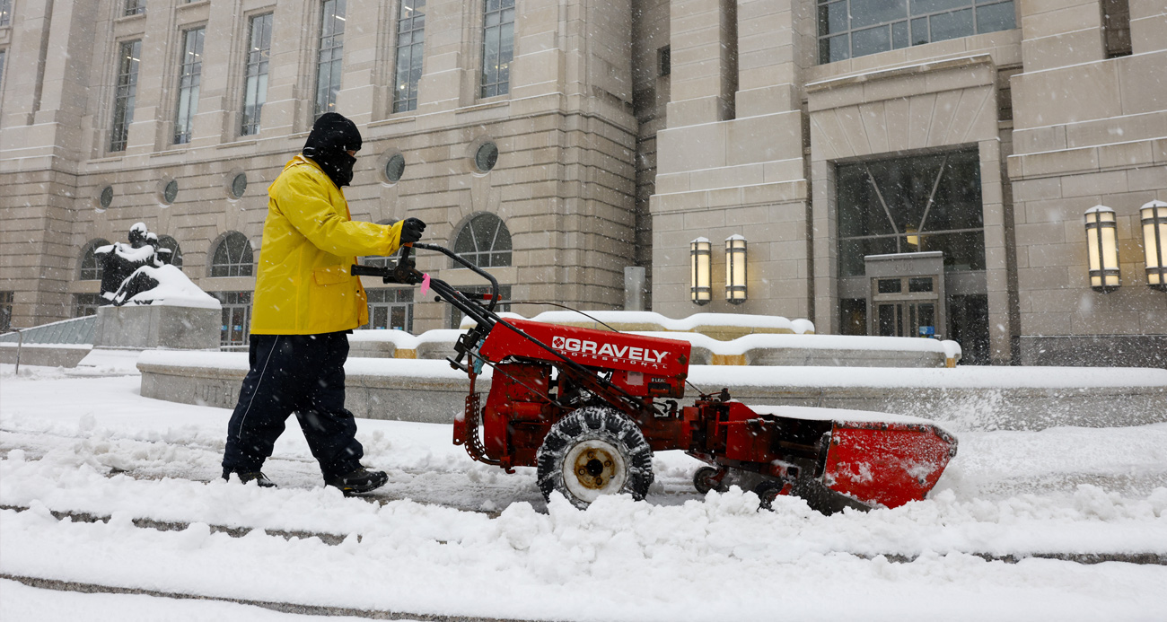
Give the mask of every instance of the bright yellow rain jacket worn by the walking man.
[[319, 335], [365, 324], [368, 298], [350, 266], [356, 256], [396, 252], [401, 223], [351, 221], [344, 194], [303, 155], [284, 166], [267, 196], [251, 333]]

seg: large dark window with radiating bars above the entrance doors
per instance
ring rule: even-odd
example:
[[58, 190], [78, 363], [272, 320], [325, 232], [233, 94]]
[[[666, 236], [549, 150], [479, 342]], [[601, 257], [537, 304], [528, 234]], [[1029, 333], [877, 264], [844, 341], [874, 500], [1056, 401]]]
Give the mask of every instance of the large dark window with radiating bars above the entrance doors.
[[976, 151], [897, 158], [836, 169], [839, 277], [861, 277], [868, 254], [943, 251], [945, 271], [985, 270]]

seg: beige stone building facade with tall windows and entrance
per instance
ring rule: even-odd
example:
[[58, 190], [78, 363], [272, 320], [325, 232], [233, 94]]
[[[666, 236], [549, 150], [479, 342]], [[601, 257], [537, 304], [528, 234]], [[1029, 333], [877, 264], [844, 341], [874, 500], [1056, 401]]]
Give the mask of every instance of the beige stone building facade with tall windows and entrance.
[[[1167, 293], [1147, 286], [1139, 219], [1167, 201], [1167, 13], [1151, 0], [0, 0], [0, 303], [16, 327], [86, 313], [86, 250], [141, 221], [244, 341], [230, 327], [246, 323], [264, 189], [335, 110], [365, 139], [354, 217], [426, 221], [520, 313], [622, 308], [640, 266], [670, 316], [920, 331], [974, 363], [1165, 364]], [[1098, 204], [1117, 221], [1106, 293], [1083, 219]], [[733, 236], [740, 303], [722, 277]], [[478, 285], [443, 258], [419, 267]], [[456, 320], [366, 285], [375, 324]]]

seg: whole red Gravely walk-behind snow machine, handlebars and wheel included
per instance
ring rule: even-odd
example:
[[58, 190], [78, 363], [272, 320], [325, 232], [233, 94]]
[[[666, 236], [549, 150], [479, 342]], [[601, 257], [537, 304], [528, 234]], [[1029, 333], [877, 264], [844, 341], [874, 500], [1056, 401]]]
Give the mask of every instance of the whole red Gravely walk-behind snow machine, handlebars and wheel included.
[[[454, 443], [474, 460], [508, 473], [534, 467], [545, 497], [560, 491], [587, 506], [601, 495], [643, 498], [652, 483], [652, 452], [680, 449], [708, 466], [697, 470], [701, 494], [736, 484], [762, 506], [797, 495], [824, 513], [844, 508], [895, 508], [928, 494], [956, 439], [917, 418], [801, 406], [747, 406], [728, 391], [685, 396], [690, 343], [532, 322], [495, 313], [498, 281], [442, 246], [446, 254], [490, 281], [483, 301], [447, 282], [429, 286], [477, 324], [448, 361], [470, 378]], [[355, 275], [418, 284], [410, 249], [393, 267], [352, 266]], [[475, 391], [494, 369], [485, 404]]]

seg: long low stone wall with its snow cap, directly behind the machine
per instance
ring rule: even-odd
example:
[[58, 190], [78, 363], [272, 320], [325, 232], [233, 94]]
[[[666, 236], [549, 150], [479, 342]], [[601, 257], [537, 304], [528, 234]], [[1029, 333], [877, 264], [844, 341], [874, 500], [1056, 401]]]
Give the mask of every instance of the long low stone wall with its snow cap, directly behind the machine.
[[[247, 372], [244, 352], [147, 350], [144, 397], [231, 408]], [[357, 417], [450, 422], [469, 383], [445, 361], [349, 358], [345, 406]], [[1118, 427], [1167, 421], [1167, 370], [1139, 368], [894, 369], [693, 365], [704, 391], [738, 400], [910, 414], [962, 429]], [[490, 389], [489, 373], [478, 391]], [[696, 397], [692, 390], [685, 400]]]

